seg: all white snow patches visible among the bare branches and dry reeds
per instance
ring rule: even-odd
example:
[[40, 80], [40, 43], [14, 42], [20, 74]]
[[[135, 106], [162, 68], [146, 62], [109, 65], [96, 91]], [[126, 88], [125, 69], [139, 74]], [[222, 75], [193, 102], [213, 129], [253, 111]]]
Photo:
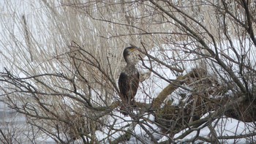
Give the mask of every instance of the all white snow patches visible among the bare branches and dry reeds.
[[[29, 12], [30, 9], [27, 9], [26, 7], [18, 8], [18, 6], [19, 6], [19, 4], [15, 4], [15, 10], [18, 10], [18, 12], [16, 11], [17, 13], [25, 14], [26, 16], [28, 16], [28, 18], [30, 16], [31, 20], [33, 17], [36, 17], [36, 15], [31, 15], [31, 13]], [[7, 18], [7, 17], [4, 17], [4, 18]], [[5, 26], [12, 25], [12, 21], [10, 21], [10, 20], [7, 20], [7, 21], [9, 21], [9, 22], [3, 23], [3, 21], [1, 21], [1, 25], [3, 25], [3, 26], [1, 26], [2, 28]], [[34, 22], [31, 21], [31, 23], [34, 23]], [[18, 41], [21, 42], [21, 44], [26, 45], [26, 43], [23, 40], [23, 37], [21, 37], [22, 34], [18, 33], [18, 29], [19, 29], [18, 27], [15, 27], [15, 29], [13, 30], [13, 31], [15, 31], [14, 32], [15, 37], [18, 39]], [[3, 34], [8, 33], [5, 29], [0, 29], [0, 31], [2, 34], [0, 37], [4, 37]], [[249, 39], [246, 39], [242, 43], [239, 42], [238, 39], [233, 39], [232, 41], [235, 44], [233, 46], [230, 45], [227, 41], [223, 41], [221, 44], [218, 45], [221, 53], [225, 53], [227, 56], [230, 56], [230, 58], [233, 58], [236, 61], [241, 60], [241, 58], [236, 56], [236, 53], [234, 53], [234, 51], [230, 50], [231, 47], [236, 48], [238, 55], [247, 56], [246, 57], [247, 59], [245, 59], [245, 60], [247, 61], [248, 64], [252, 65], [253, 69], [255, 69], [256, 68], [255, 45], [253, 45], [252, 42], [249, 41]], [[184, 44], [184, 45], [186, 45], [187, 43], [188, 42], [180, 42], [180, 44]], [[15, 66], [10, 66], [8, 63], [9, 60], [15, 61], [15, 59], [12, 59], [13, 56], [10, 56], [9, 53], [7, 53], [6, 50], [8, 50], [8, 49], [5, 48], [6, 46], [8, 46], [8, 48], [12, 47], [11, 45], [7, 45], [5, 42], [3, 42], [0, 45], [0, 56], [1, 56], [0, 57], [0, 61], [1, 61], [0, 70], [1, 71], [4, 69], [4, 67], [8, 67], [10, 69], [15, 67]], [[196, 67], [200, 67], [200, 66], [198, 66], [197, 60], [189, 61], [189, 60], [197, 58], [195, 56], [195, 54], [184, 53], [184, 50], [176, 50], [175, 48], [176, 48], [176, 45], [161, 45], [161, 47], [153, 48], [149, 52], [149, 54], [151, 56], [159, 58], [160, 61], [164, 61], [165, 64], [167, 64], [167, 65], [178, 65], [179, 67], [184, 69], [184, 72], [182, 72], [182, 75], [186, 75], [187, 73], [191, 72], [192, 69], [194, 69]], [[187, 46], [186, 48], [187, 48], [187, 50], [193, 50], [193, 49], [195, 49], [195, 46], [191, 45], [191, 46]], [[19, 52], [17, 49], [15, 49], [14, 51], [16, 54]], [[4, 57], [4, 56], [6, 56], [6, 57]], [[28, 57], [29, 57], [29, 53], [24, 53], [24, 58], [28, 58]], [[151, 72], [151, 77], [149, 77], [147, 80], [143, 81], [143, 83], [140, 83], [138, 94], [137, 94], [135, 100], [137, 102], [150, 103], [152, 101], [152, 99], [156, 98], [158, 96], [158, 94], [162, 91], [162, 89], [165, 88], [169, 84], [169, 82], [167, 82], [166, 80], [163, 80], [162, 77], [165, 77], [167, 80], [175, 80], [177, 76], [176, 76], [176, 74], [171, 72], [169, 68], [159, 64], [157, 61], [152, 61], [148, 57], [145, 57], [143, 60], [147, 67], [152, 66], [154, 71], [157, 72], [161, 76], [161, 77], [159, 77], [159, 75], [156, 75], [156, 74], [154, 74], [154, 72]], [[176, 60], [176, 61], [173, 61], [173, 60]], [[182, 60], [182, 61], [179, 61], [179, 60]], [[140, 62], [137, 67], [140, 69], [141, 72], [148, 72], [148, 69], [143, 67], [142, 62]], [[217, 69], [219, 70], [220, 74], [223, 77], [226, 77], [225, 72], [222, 72], [222, 68], [220, 68], [218, 65], [215, 65], [215, 67], [217, 67]], [[238, 72], [238, 69], [239, 69], [238, 64], [233, 64], [232, 69], [235, 72]], [[211, 62], [209, 62], [208, 63], [208, 72], [211, 72], [211, 71], [213, 71], [213, 69], [211, 69]], [[22, 75], [22, 73], [20, 73], [20, 72], [18, 72], [18, 73], [20, 75]], [[237, 75], [237, 73], [236, 73], [236, 75]], [[189, 88], [189, 87], [187, 87], [187, 88]], [[184, 91], [183, 88], [176, 89], [176, 91], [171, 96], [168, 97], [168, 99], [171, 99], [173, 101], [173, 105], [178, 105], [180, 103], [181, 96], [178, 93], [181, 93], [181, 92], [187, 93], [187, 95], [189, 95], [189, 93], [187, 91]], [[233, 92], [229, 90], [227, 92], [227, 94], [231, 96], [233, 94]], [[75, 104], [73, 104], [72, 99], [69, 99], [69, 98], [64, 99], [64, 102], [67, 102], [67, 105], [75, 105]], [[3, 105], [2, 103], [0, 103], [0, 108], [1, 108], [0, 115], [7, 114], [4, 111], [2, 111], [6, 107], [7, 107], [6, 105]], [[137, 112], [135, 111], [135, 113], [137, 113]], [[137, 114], [139, 114], [139, 113], [137, 113]], [[207, 114], [203, 115], [201, 118], [205, 118], [206, 116], [207, 116]], [[4, 117], [6, 118], [6, 116], [4, 116]], [[8, 119], [8, 120], [1, 119], [0, 122], [2, 122], [2, 121], [10, 121], [10, 119]], [[22, 122], [25, 123], [26, 119], [24, 117], [20, 117], [20, 118], [16, 119], [16, 121], [20, 122], [20, 124], [22, 124]], [[150, 132], [158, 140], [159, 143], [169, 140], [169, 137], [162, 136], [157, 133], [160, 131], [160, 129], [156, 124], [153, 123], [154, 115], [146, 113], [138, 121], [140, 121], [140, 124], [135, 124], [135, 126], [132, 126], [132, 124], [133, 124], [132, 118], [130, 118], [129, 116], [124, 116], [121, 113], [119, 113], [118, 111], [113, 111], [113, 116], [108, 119], [108, 125], [113, 126], [113, 129], [112, 129], [112, 127], [111, 127], [111, 129], [110, 129], [110, 127], [104, 127], [102, 129], [102, 131], [97, 130], [97, 132], [96, 132], [97, 140], [102, 141], [102, 143], [108, 143], [109, 140], [115, 140], [117, 137], [120, 137], [122, 134], [124, 134], [127, 131], [127, 129], [132, 129], [132, 132], [134, 132], [136, 135], [138, 135], [138, 137], [140, 137], [143, 140], [146, 140], [148, 143], [153, 143], [150, 141], [149, 135], [147, 134], [146, 130], [143, 129], [142, 126], [145, 126], [145, 128], [148, 130], [148, 132]], [[225, 118], [225, 117], [214, 120], [211, 123], [211, 126], [214, 126], [214, 129], [217, 132], [217, 136], [219, 136], [219, 137], [235, 136], [235, 135], [239, 136], [241, 134], [249, 134], [249, 133], [256, 131], [254, 123], [244, 123], [242, 121], [237, 121], [236, 119], [233, 119], [233, 118]], [[181, 132], [178, 132], [174, 136], [174, 138], [180, 136], [181, 134], [183, 134], [186, 131], [187, 131], [187, 129], [184, 129]], [[203, 129], [200, 130], [199, 135], [201, 137], [210, 138], [210, 137], [208, 137], [210, 134], [211, 134], [210, 129], [208, 127], [204, 127]], [[110, 137], [109, 137], [109, 135], [110, 135]], [[177, 140], [176, 142], [182, 143], [182, 142], [185, 142], [186, 140], [191, 140], [196, 135], [197, 135], [197, 131], [191, 132], [186, 137], [184, 137], [182, 140]], [[255, 140], [256, 137], [253, 137], [253, 139]], [[37, 138], [37, 140], [39, 142], [44, 142], [44, 143], [55, 143], [54, 140], [52, 138], [48, 137], [47, 135], [42, 135], [42, 137]], [[248, 141], [249, 141], [248, 138], [239, 138], [239, 139], [236, 138], [236, 139], [230, 139], [230, 140], [223, 139], [221, 143], [235, 143], [235, 142], [236, 143], [247, 143]], [[136, 137], [131, 137], [131, 139], [127, 143], [135, 143], [135, 142], [136, 142]], [[197, 142], [200, 143], [200, 140], [198, 140]]]

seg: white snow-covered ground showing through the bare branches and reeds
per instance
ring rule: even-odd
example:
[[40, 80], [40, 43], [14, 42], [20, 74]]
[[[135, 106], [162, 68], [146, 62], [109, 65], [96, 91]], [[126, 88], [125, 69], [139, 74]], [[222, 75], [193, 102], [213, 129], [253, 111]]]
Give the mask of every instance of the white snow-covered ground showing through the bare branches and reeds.
[[[4, 5], [3, 1], [0, 1], [0, 5]], [[21, 4], [23, 5], [23, 7], [18, 7], [20, 4], [13, 4], [14, 7], [13, 10], [15, 10], [16, 15], [20, 16], [20, 15], [26, 15], [26, 17], [28, 17], [30, 20], [33, 19], [33, 17], [37, 17], [37, 15], [31, 15], [31, 10], [34, 10], [33, 8], [31, 8], [29, 5], [26, 4]], [[29, 7], [29, 8], [28, 8]], [[10, 29], [10, 27], [7, 26], [12, 26], [13, 24], [15, 25], [15, 23], [12, 23], [11, 20], [9, 20], [8, 18], [10, 17], [10, 13], [7, 13], [6, 11], [4, 11], [4, 7], [0, 7], [2, 11], [1, 13], [1, 28], [0, 28], [0, 33], [1, 36], [0, 37], [6, 37], [6, 35], [8, 35], [8, 31], [7, 28]], [[33, 13], [34, 14], [34, 13]], [[33, 22], [31, 22], [33, 23]], [[18, 41], [20, 41], [23, 45], [26, 45], [26, 42], [24, 42], [23, 37], [20, 37], [20, 33], [18, 32], [18, 27], [15, 27], [15, 29], [13, 29], [13, 31], [15, 31], [15, 37], [18, 39]], [[8, 37], [11, 37], [10, 35], [8, 35]], [[10, 65], [10, 61], [15, 61], [15, 56], [11, 56], [9, 53], [10, 51], [13, 51], [13, 54], [17, 54], [19, 53], [18, 49], [15, 48], [11, 48], [9, 44], [3, 43], [4, 41], [2, 41], [1, 45], [0, 45], [0, 71], [4, 70], [4, 67], [7, 67], [8, 69], [15, 69], [15, 66]], [[234, 58], [235, 60], [237, 60], [236, 55], [234, 55], [233, 51], [230, 51], [230, 45], [227, 44], [228, 42], [223, 42], [222, 45], [219, 45], [220, 50], [222, 51], [222, 53], [226, 53], [228, 56], [230, 56], [231, 58]], [[238, 40], [233, 39], [233, 43], [236, 44], [234, 45], [235, 48], [237, 48], [238, 50], [238, 54], [239, 55], [248, 55], [249, 56], [249, 61], [252, 64], [252, 68], [255, 69], [256, 67], [256, 48], [254, 45], [252, 45], [251, 42], [249, 42], [248, 39], [246, 39], [243, 43], [238, 42]], [[15, 45], [15, 44], [14, 44]], [[10, 49], [8, 49], [10, 48]], [[26, 48], [26, 47], [25, 47]], [[156, 47], [153, 48], [150, 51], [151, 56], [155, 56], [157, 58], [159, 58], [160, 61], [164, 61], [165, 64], [168, 65], [174, 65], [174, 62], [176, 62], [176, 64], [178, 63], [178, 65], [180, 65], [180, 67], [185, 69], [185, 72], [189, 72], [191, 69], [195, 68], [195, 67], [200, 67], [198, 65], [198, 61], [189, 61], [191, 59], [196, 59], [197, 56], [195, 54], [188, 54], [188, 53], [184, 53], [184, 51], [179, 50], [176, 51], [175, 53], [172, 51], [172, 49], [175, 48], [175, 45], [162, 45], [162, 48]], [[161, 50], [160, 50], [161, 49]], [[193, 49], [193, 47], [189, 47], [187, 49]], [[6, 50], [10, 50], [8, 53]], [[17, 51], [16, 51], [17, 50]], [[29, 53], [26, 53], [27, 55], [29, 55]], [[4, 57], [7, 56], [7, 57]], [[28, 56], [29, 57], [29, 56]], [[181, 60], [185, 60], [185, 61], [172, 61], [173, 59], [181, 59]], [[188, 61], [186, 61], [188, 60]], [[146, 64], [148, 65], [148, 67], [152, 66], [154, 71], [156, 71], [157, 73], [159, 73], [159, 75], [161, 75], [162, 77], [167, 78], [168, 80], [175, 80], [177, 75], [174, 74], [173, 72], [170, 71], [170, 69], [168, 69], [165, 66], [162, 66], [161, 64], [158, 64], [155, 61], [152, 61], [152, 64], [149, 64], [149, 60], [148, 58], [144, 58], [144, 61], [146, 61]], [[211, 64], [211, 63], [209, 63]], [[143, 69], [143, 67], [141, 66], [141, 63], [138, 64], [138, 68], [140, 69], [140, 71], [143, 72], [147, 72], [147, 69]], [[217, 66], [217, 69], [221, 69]], [[236, 69], [238, 69], [238, 65], [237, 64], [233, 64], [232, 67], [233, 70], [237, 71]], [[212, 71], [211, 67], [209, 67], [208, 71]], [[219, 70], [219, 72], [222, 72], [221, 70]], [[211, 73], [211, 72], [210, 72]], [[223, 75], [225, 76], [225, 75]], [[163, 80], [161, 77], [159, 77], [158, 75], [155, 75], [154, 73], [151, 73], [151, 77], [148, 78], [148, 80], [145, 80], [143, 83], [140, 83], [140, 88], [138, 91], [138, 94], [136, 95], [136, 101], [138, 102], [151, 102], [151, 100], [153, 98], [155, 98], [161, 91], [163, 88], [165, 88], [169, 83], [167, 83], [167, 81]], [[1, 85], [1, 83], [0, 83]], [[173, 94], [169, 96], [169, 99], [173, 100], [173, 105], [178, 105], [178, 102], [180, 100], [180, 97], [177, 94]], [[136, 113], [136, 112], [135, 112]], [[121, 113], [119, 113], [118, 111], [114, 111], [113, 112], [113, 117], [110, 117], [108, 119], [108, 125], [113, 125], [114, 129], [120, 129], [119, 132], [117, 132], [117, 130], [113, 130], [110, 129], [109, 127], [105, 127], [104, 129], [102, 129], [102, 131], [97, 131], [97, 139], [98, 140], [102, 140], [102, 143], [108, 143], [108, 136], [111, 135], [110, 140], [115, 140], [117, 137], [120, 137], [121, 134], [124, 134], [125, 130], [127, 129], [132, 129], [132, 132], [134, 132], [136, 135], [138, 135], [138, 137], [140, 137], [140, 139], [146, 141], [146, 143], [154, 143], [151, 141], [151, 137], [147, 134], [145, 128], [143, 128], [141, 125], [136, 124], [136, 125], [132, 125], [132, 118], [130, 118], [129, 116], [124, 116]], [[206, 114], [207, 115], [207, 114]], [[206, 115], [203, 115], [203, 117], [205, 117]], [[202, 117], [202, 118], [203, 118]], [[147, 121], [146, 121], [146, 120]], [[160, 132], [160, 129], [158, 128], [158, 126], [156, 124], [154, 124], [152, 121], [154, 121], [154, 116], [153, 115], [143, 115], [143, 118], [140, 118], [140, 121], [142, 123], [143, 126], [146, 127], [146, 129], [148, 130], [148, 132], [150, 132], [157, 140], [158, 142], [162, 142], [167, 140], [167, 137], [164, 137], [162, 135], [159, 135], [157, 132]], [[13, 125], [7, 125], [7, 123], [13, 122]], [[242, 121], [237, 121], [236, 119], [233, 118], [219, 118], [217, 120], [215, 120], [212, 124], [212, 126], [214, 126], [215, 131], [217, 132], [218, 136], [240, 136], [241, 134], [249, 134], [252, 132], [255, 132], [255, 124], [254, 123], [244, 123]], [[0, 126], [5, 127], [5, 128], [12, 128], [12, 126], [18, 127], [18, 129], [29, 129], [26, 125], [26, 118], [23, 117], [22, 115], [18, 114], [18, 113], [13, 113], [12, 110], [9, 110], [7, 105], [4, 105], [4, 103], [0, 102]], [[7, 126], [7, 127], [6, 127]], [[124, 132], [121, 132], [121, 130], [123, 130]], [[176, 134], [174, 137], [178, 137], [181, 134], [183, 134], [184, 132], [186, 132], [187, 129], [184, 129], [181, 132], [178, 132], [178, 134]], [[208, 129], [208, 127], [204, 127], [203, 129], [200, 130], [200, 134], [199, 136], [201, 137], [207, 137], [211, 134], [211, 131]], [[26, 135], [26, 134], [25, 134]], [[24, 137], [25, 137], [24, 135]], [[190, 134], [188, 134], [186, 137], [184, 137], [182, 140], [177, 140], [178, 143], [182, 143], [185, 142], [186, 140], [191, 140], [193, 137], [197, 136], [197, 131], [192, 132]], [[138, 140], [138, 137], [131, 137], [131, 139], [129, 141], [127, 141], [127, 143], [140, 143]], [[29, 138], [29, 137], [28, 137]], [[223, 141], [221, 141], [222, 143], [249, 143], [250, 140], [256, 140], [256, 137], [250, 137], [251, 139], [249, 139], [248, 137], [246, 138], [234, 138], [234, 139], [230, 139], [230, 140], [226, 140], [223, 139]], [[42, 137], [38, 137], [37, 142], [35, 143], [55, 143], [53, 141], [53, 139], [51, 139], [50, 137], [46, 136], [46, 135], [42, 135]], [[198, 143], [200, 143], [200, 140], [197, 140]], [[29, 143], [29, 142], [28, 142]], [[80, 143], [80, 141], [78, 140], [77, 143]]]

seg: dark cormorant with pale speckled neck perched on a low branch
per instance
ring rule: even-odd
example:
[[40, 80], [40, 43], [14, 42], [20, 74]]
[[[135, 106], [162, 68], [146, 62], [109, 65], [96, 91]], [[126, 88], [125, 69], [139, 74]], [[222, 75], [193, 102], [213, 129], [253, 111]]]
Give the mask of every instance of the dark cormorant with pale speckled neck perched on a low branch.
[[[138, 50], [137, 47], [131, 46], [124, 49], [123, 56], [124, 60], [127, 62], [126, 67], [121, 71], [118, 79], [118, 87], [120, 90], [120, 97], [123, 102], [121, 110], [125, 111], [124, 106], [135, 107], [135, 95], [138, 91], [138, 86], [140, 82], [140, 73], [135, 67], [135, 59], [132, 58], [132, 53]], [[124, 115], [127, 113], [123, 112]]]

